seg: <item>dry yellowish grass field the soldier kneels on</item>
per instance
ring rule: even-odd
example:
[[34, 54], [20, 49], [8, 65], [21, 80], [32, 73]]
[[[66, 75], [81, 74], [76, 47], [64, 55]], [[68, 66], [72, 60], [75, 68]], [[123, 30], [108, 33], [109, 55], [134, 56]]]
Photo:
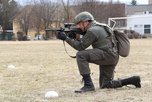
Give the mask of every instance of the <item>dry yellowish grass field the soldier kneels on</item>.
[[[70, 54], [76, 53], [68, 45]], [[9, 64], [15, 69], [9, 69]], [[120, 58], [115, 78], [140, 75], [142, 88], [99, 89], [98, 66], [91, 64], [96, 92], [75, 94], [80, 88], [75, 59], [64, 51], [62, 41], [0, 42], [1, 102], [152, 102], [152, 39], [131, 40], [131, 52]], [[58, 98], [45, 99], [49, 90]]]

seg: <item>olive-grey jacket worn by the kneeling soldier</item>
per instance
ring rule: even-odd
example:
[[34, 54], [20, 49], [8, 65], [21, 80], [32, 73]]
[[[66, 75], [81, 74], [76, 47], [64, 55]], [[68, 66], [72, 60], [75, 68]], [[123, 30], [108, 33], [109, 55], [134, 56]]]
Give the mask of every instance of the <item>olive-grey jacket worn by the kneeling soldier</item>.
[[65, 41], [74, 49], [81, 51], [92, 45], [93, 48], [109, 49], [112, 48], [112, 42], [108, 39], [108, 33], [100, 23], [94, 21], [90, 28], [80, 40], [67, 38]]

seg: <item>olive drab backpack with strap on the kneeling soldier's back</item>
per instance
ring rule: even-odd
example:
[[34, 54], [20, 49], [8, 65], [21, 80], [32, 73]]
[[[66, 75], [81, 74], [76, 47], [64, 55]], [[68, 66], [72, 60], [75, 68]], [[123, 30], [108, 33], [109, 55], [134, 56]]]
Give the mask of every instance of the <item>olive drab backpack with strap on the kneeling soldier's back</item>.
[[96, 23], [99, 26], [102, 26], [105, 31], [108, 33], [108, 35], [112, 38], [112, 42], [114, 45], [116, 44], [118, 48], [118, 53], [121, 57], [127, 57], [130, 52], [130, 41], [128, 36], [120, 32], [118, 30], [111, 29], [108, 25], [103, 23]]

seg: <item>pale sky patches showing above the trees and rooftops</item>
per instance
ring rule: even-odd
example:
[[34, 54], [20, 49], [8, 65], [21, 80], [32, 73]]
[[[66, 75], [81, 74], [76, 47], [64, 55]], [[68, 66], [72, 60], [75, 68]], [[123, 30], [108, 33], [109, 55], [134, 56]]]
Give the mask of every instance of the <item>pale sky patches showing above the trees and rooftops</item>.
[[[28, 3], [31, 0], [16, 0], [17, 2], [19, 2], [21, 5]], [[104, 2], [108, 2], [109, 0], [99, 0], [99, 1], [104, 1]], [[130, 2], [132, 0], [113, 0], [113, 2], [123, 2], [123, 3], [127, 3], [130, 4]], [[148, 0], [136, 0], [137, 4], [148, 4]]]

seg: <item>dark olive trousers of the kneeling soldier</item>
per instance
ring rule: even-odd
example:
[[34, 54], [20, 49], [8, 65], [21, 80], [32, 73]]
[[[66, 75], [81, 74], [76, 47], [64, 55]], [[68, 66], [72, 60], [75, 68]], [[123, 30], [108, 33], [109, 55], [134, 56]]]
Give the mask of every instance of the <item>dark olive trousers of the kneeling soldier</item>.
[[113, 79], [114, 69], [118, 63], [119, 55], [111, 50], [87, 49], [79, 51], [76, 58], [81, 75], [91, 73], [89, 63], [99, 65], [100, 83], [102, 83], [104, 78]]

